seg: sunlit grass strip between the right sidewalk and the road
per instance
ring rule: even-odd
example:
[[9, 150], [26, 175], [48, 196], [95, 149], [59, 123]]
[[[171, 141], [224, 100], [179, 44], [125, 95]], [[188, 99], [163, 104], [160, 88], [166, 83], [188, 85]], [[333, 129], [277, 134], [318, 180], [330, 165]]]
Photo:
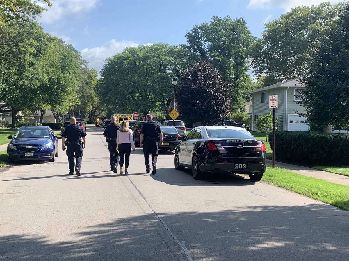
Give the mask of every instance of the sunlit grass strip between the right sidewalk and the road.
[[286, 169], [267, 167], [263, 181], [324, 203], [349, 210], [349, 186], [306, 177]]

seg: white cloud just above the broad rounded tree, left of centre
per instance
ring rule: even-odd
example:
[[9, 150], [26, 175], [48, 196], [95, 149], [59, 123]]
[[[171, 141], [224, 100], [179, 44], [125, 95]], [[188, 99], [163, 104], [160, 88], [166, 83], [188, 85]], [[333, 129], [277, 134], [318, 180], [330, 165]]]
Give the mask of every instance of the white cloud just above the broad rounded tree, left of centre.
[[101, 47], [85, 48], [81, 50], [82, 57], [89, 62], [91, 68], [99, 70], [104, 63], [104, 59], [121, 53], [126, 47], [138, 47], [139, 44], [133, 41], [117, 41], [115, 39], [106, 42]]

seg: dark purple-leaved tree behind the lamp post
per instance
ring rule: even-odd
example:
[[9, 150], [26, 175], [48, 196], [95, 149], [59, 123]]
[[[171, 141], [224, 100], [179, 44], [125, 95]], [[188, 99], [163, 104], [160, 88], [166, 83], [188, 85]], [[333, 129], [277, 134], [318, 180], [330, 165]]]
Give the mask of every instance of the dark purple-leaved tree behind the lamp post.
[[230, 118], [230, 83], [218, 68], [200, 61], [183, 71], [179, 78], [178, 110], [187, 122], [222, 122]]

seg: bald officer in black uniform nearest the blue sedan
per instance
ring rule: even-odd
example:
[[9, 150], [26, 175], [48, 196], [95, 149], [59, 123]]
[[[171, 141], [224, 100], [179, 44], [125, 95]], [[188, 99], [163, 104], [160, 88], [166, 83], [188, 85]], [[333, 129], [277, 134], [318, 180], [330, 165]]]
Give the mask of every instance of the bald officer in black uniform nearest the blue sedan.
[[76, 124], [76, 119], [74, 117], [70, 118], [70, 126], [66, 127], [62, 133], [63, 151], [66, 150], [65, 143], [67, 145], [69, 175], [74, 174], [74, 157], [76, 158], [76, 175], [81, 175], [82, 149], [86, 146], [86, 135], [86, 132], [81, 128], [81, 126]]

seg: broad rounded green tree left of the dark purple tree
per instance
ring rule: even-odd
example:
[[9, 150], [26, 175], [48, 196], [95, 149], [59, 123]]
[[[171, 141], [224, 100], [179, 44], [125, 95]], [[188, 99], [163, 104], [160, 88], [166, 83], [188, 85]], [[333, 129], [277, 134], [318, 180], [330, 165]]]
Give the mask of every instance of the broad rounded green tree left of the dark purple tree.
[[187, 68], [195, 55], [168, 44], [128, 47], [107, 58], [98, 83], [108, 114], [169, 111], [173, 104], [172, 77]]

